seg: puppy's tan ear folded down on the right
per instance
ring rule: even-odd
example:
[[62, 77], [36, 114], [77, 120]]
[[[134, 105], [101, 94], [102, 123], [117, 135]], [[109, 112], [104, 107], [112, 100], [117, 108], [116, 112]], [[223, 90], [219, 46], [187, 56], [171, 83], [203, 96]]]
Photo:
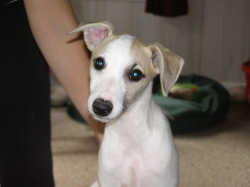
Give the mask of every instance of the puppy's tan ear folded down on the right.
[[152, 52], [151, 58], [155, 71], [160, 74], [163, 94], [167, 96], [181, 72], [184, 60], [158, 43], [149, 47]]

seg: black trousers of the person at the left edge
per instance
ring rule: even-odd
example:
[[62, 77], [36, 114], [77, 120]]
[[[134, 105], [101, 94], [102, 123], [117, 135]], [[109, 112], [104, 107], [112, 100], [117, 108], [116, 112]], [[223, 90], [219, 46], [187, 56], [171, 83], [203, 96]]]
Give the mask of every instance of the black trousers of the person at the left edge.
[[52, 187], [49, 68], [22, 1], [0, 5], [0, 186]]

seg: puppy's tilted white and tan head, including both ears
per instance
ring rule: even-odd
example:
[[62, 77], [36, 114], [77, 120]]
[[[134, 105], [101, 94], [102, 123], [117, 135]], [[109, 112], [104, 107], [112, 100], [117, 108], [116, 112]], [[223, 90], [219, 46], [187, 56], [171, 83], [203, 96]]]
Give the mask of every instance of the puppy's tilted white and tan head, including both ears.
[[92, 52], [88, 109], [99, 121], [118, 117], [160, 74], [167, 96], [183, 65], [183, 59], [160, 44], [146, 45], [130, 35], [115, 35], [108, 22], [80, 25]]

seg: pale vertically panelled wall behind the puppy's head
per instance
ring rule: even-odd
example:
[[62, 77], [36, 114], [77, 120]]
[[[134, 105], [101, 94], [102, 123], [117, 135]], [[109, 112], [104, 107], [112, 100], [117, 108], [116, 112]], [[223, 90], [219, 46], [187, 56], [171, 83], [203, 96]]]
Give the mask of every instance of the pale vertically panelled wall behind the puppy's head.
[[189, 0], [189, 14], [165, 18], [145, 13], [144, 0], [71, 0], [79, 22], [108, 20], [117, 33], [160, 42], [185, 59], [183, 74], [243, 82], [250, 58], [249, 0]]

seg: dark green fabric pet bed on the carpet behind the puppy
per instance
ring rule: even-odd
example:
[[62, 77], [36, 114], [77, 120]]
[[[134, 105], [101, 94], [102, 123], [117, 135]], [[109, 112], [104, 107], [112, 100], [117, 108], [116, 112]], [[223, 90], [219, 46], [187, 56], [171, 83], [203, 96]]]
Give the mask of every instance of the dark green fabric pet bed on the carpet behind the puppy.
[[192, 83], [200, 90], [197, 101], [163, 97], [159, 78], [154, 81], [154, 99], [173, 119], [169, 119], [173, 133], [199, 131], [218, 124], [225, 118], [230, 97], [228, 91], [218, 82], [198, 76], [180, 76], [177, 83]]

